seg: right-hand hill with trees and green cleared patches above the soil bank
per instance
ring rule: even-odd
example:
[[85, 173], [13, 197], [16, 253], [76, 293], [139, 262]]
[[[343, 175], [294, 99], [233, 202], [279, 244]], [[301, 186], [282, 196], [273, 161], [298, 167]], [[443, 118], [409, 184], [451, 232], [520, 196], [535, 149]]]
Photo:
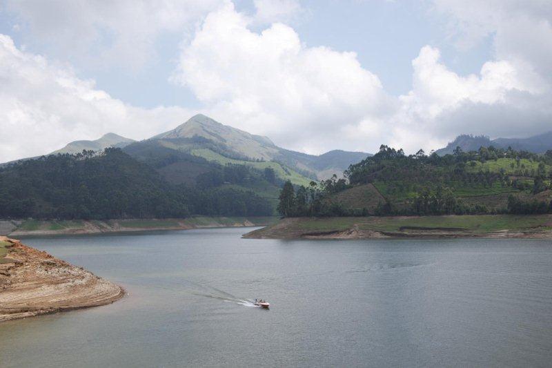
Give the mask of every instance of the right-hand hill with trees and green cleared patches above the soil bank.
[[552, 151], [481, 147], [428, 156], [381, 146], [342, 179], [309, 187], [287, 183], [278, 209], [286, 216], [547, 213], [551, 178]]

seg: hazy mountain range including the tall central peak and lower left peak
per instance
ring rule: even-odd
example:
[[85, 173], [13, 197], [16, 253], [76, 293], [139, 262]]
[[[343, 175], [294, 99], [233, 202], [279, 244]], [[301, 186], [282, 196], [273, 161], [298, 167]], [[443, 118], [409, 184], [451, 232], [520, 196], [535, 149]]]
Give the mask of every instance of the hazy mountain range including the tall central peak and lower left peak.
[[132, 157], [156, 168], [173, 184], [193, 184], [197, 175], [210, 171], [211, 163], [246, 164], [260, 170], [273, 168], [282, 180], [308, 184], [311, 180], [326, 179], [333, 174], [341, 176], [349, 165], [370, 155], [341, 150], [322, 155], [290, 151], [276, 146], [268, 137], [247, 133], [201, 114], [140, 142], [107, 133], [95, 140], [70, 142], [48, 155], [102, 151], [108, 147], [122, 148]]

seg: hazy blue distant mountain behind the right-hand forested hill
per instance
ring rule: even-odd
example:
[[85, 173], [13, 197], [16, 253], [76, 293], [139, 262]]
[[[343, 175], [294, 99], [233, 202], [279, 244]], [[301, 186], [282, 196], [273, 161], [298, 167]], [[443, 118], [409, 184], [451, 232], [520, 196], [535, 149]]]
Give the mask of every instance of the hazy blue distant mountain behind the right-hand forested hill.
[[459, 135], [453, 142], [449, 142], [444, 148], [440, 148], [435, 153], [437, 155], [452, 154], [454, 149], [460, 146], [462, 151], [477, 151], [481, 146], [495, 148], [511, 147], [516, 151], [529, 151], [531, 153], [544, 153], [552, 149], [552, 131], [533, 135], [528, 138], [497, 138], [490, 139], [484, 135]]

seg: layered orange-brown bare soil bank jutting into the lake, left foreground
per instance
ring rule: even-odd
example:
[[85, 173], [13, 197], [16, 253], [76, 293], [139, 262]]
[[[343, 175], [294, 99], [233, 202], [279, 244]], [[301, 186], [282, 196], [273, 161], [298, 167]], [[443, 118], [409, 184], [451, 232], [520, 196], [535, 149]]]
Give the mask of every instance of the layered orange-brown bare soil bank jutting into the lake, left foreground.
[[0, 236], [0, 322], [110, 304], [124, 289], [46, 252]]

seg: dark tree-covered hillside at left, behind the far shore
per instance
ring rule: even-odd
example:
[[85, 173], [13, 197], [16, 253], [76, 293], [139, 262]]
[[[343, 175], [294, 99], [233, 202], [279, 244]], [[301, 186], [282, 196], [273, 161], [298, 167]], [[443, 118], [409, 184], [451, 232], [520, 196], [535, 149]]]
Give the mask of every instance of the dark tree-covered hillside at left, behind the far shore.
[[[248, 168], [217, 170], [226, 174], [224, 180], [229, 180], [228, 183], [240, 180], [236, 172], [249, 174]], [[272, 213], [273, 206], [266, 198], [243, 188], [170, 184], [152, 167], [119, 148], [106, 148], [100, 155], [92, 151], [50, 155], [0, 169], [3, 218], [110, 219]]]

